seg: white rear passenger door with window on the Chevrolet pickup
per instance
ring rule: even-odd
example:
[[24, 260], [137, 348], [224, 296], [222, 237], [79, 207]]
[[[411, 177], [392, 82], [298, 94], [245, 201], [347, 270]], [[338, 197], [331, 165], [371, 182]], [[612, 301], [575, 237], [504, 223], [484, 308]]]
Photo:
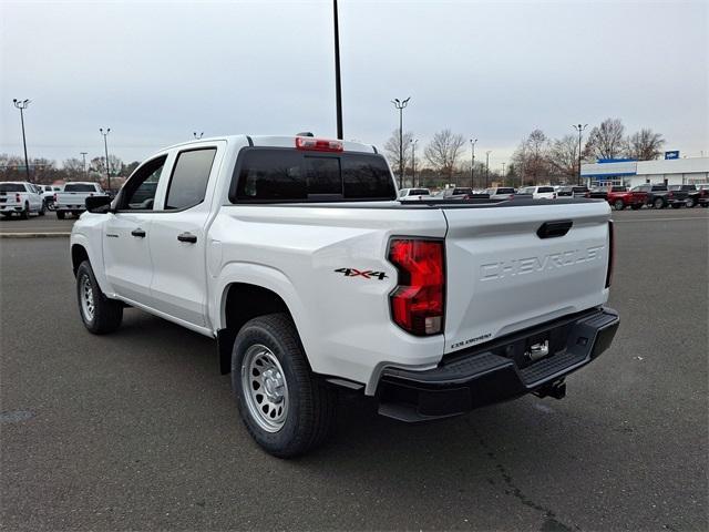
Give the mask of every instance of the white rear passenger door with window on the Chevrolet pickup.
[[219, 142], [176, 153], [151, 225], [154, 308], [197, 326], [206, 324], [206, 226], [225, 147]]

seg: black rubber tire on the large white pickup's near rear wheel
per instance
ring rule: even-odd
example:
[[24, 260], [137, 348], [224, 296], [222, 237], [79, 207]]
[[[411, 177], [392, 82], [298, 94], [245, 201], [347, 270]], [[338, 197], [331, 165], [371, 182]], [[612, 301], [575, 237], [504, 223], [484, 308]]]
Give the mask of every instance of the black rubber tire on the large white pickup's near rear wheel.
[[[264, 347], [266, 350], [261, 349]], [[271, 430], [260, 424], [264, 421], [259, 421], [257, 416], [261, 415], [251, 411], [261, 406], [268, 408], [267, 402], [261, 403], [256, 399], [261, 386], [258, 379], [261, 379], [264, 391], [268, 386], [263, 380], [265, 371], [254, 376], [253, 367], [248, 364], [249, 359], [254, 359], [255, 349], [275, 357], [280, 365], [278, 371], [282, 369], [285, 387], [281, 385], [280, 389], [285, 389], [285, 399], [281, 398], [285, 418], [279, 428], [271, 427]], [[244, 379], [248, 381], [249, 388], [246, 390]], [[286, 314], [260, 316], [242, 327], [232, 351], [232, 387], [246, 429], [266, 452], [275, 457], [291, 458], [314, 449], [326, 440], [335, 424], [336, 392], [310, 370], [296, 327]], [[267, 401], [265, 393], [260, 396], [261, 401]], [[268, 416], [263, 415], [261, 418]]]

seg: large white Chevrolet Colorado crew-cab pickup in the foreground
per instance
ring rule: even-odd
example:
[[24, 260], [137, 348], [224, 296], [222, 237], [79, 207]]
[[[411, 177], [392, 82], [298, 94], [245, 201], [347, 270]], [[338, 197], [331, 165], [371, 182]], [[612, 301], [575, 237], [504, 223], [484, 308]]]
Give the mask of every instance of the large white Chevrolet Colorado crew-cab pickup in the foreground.
[[400, 202], [370, 145], [226, 136], [168, 147], [109, 203], [89, 197], [71, 259], [81, 318], [125, 306], [217, 340], [268, 452], [327, 436], [338, 387], [404, 421], [534, 392], [609, 345], [606, 202]]

